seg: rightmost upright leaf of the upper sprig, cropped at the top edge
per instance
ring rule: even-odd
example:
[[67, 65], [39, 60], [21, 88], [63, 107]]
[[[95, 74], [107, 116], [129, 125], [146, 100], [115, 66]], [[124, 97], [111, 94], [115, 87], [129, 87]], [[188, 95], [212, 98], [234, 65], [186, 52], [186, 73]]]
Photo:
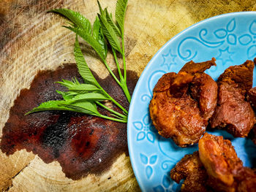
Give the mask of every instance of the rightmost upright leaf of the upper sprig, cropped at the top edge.
[[116, 2], [116, 22], [122, 37], [124, 37], [124, 15], [127, 10], [127, 3], [128, 0], [117, 0]]

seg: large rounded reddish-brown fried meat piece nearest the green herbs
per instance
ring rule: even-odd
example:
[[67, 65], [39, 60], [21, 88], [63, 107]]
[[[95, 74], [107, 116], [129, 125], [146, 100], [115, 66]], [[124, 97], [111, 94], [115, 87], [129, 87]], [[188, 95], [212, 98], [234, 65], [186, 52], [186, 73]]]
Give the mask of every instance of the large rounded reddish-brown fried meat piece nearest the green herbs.
[[154, 88], [149, 105], [152, 122], [162, 137], [172, 138], [180, 147], [198, 142], [216, 107], [217, 83], [203, 73], [216, 65], [214, 61], [190, 61], [178, 74], [163, 75]]

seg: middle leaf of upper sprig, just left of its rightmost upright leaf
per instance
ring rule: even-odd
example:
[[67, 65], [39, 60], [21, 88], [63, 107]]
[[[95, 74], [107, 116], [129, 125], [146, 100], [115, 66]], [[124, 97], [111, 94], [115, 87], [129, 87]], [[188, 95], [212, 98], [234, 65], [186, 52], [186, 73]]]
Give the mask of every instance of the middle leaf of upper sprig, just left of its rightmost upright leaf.
[[121, 46], [120, 46], [120, 41], [119, 41], [119, 39], [116, 35], [116, 32], [112, 28], [112, 26], [110, 26], [107, 19], [104, 18], [102, 15], [98, 14], [98, 17], [99, 17], [99, 20], [101, 22], [103, 34], [105, 35], [105, 37], [107, 37], [108, 42], [110, 43], [111, 47], [113, 47], [119, 53], [122, 53]]

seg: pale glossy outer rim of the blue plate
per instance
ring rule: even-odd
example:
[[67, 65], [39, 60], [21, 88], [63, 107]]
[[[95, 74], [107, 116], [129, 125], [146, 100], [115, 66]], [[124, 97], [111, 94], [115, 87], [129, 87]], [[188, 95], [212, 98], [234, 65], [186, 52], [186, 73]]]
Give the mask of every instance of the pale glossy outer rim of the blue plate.
[[154, 61], [156, 60], [157, 56], [162, 52], [162, 50], [165, 49], [165, 47], [167, 47], [168, 45], [170, 45], [171, 42], [173, 42], [175, 39], [177, 39], [178, 37], [180, 37], [181, 35], [183, 35], [184, 33], [186, 33], [187, 31], [191, 30], [192, 28], [196, 28], [197, 26], [200, 26], [203, 23], [206, 23], [210, 20], [216, 20], [219, 18], [225, 18], [225, 17], [230, 17], [230, 16], [237, 16], [237, 15], [256, 15], [256, 11], [246, 11], [246, 12], [229, 12], [229, 13], [225, 13], [222, 15], [216, 15], [213, 16], [211, 18], [206, 18], [205, 20], [201, 20], [195, 24], [193, 24], [192, 26], [189, 26], [188, 28], [185, 28], [183, 31], [179, 32], [178, 34], [176, 34], [175, 36], [173, 36], [171, 39], [169, 39], [165, 45], [163, 45], [159, 50], [157, 50], [157, 53], [154, 54], [154, 56], [151, 58], [151, 60], [148, 62], [148, 64], [146, 64], [146, 67], [143, 69], [143, 72], [140, 74], [139, 80], [135, 86], [135, 89], [132, 93], [132, 99], [131, 102], [129, 104], [129, 112], [128, 112], [128, 119], [127, 119], [127, 144], [128, 144], [128, 151], [129, 151], [129, 159], [131, 161], [132, 164], [132, 171], [135, 174], [136, 180], [138, 182], [138, 185], [140, 186], [140, 190], [143, 191], [142, 188], [142, 183], [140, 181], [140, 177], [138, 176], [138, 169], [135, 167], [135, 158], [133, 155], [134, 150], [132, 148], [132, 142], [130, 137], [132, 137], [131, 133], [130, 133], [130, 129], [132, 128], [132, 115], [130, 113], [131, 110], [133, 110], [134, 106], [135, 106], [135, 93], [138, 92], [138, 88], [140, 87], [140, 84], [142, 83], [141, 77], [143, 77], [144, 74], [146, 74], [149, 70], [149, 67], [151, 66], [151, 64], [154, 63]]

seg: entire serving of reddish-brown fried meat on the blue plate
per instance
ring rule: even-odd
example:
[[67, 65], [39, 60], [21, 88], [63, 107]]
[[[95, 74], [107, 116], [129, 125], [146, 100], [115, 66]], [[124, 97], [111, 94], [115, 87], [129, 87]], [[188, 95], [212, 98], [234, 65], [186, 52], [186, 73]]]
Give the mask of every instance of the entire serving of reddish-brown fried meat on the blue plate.
[[184, 180], [181, 191], [256, 191], [255, 171], [243, 166], [230, 140], [205, 133], [207, 126], [221, 128], [256, 144], [254, 62], [230, 66], [215, 82], [204, 73], [214, 61], [189, 61], [178, 74], [164, 74], [149, 104], [151, 120], [180, 147], [198, 142], [199, 150], [170, 172], [176, 183]]

